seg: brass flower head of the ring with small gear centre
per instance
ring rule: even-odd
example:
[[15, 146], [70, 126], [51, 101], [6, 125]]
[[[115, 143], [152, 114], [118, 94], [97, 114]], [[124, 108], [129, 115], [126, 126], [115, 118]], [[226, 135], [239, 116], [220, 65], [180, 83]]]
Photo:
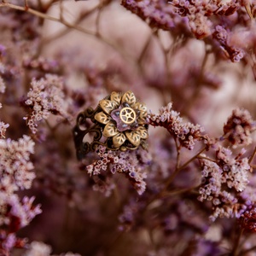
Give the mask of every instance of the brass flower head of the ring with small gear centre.
[[112, 139], [114, 149], [136, 149], [148, 138], [147, 108], [131, 90], [124, 94], [113, 91], [100, 101], [99, 108], [102, 111], [94, 118], [103, 125], [102, 134]]

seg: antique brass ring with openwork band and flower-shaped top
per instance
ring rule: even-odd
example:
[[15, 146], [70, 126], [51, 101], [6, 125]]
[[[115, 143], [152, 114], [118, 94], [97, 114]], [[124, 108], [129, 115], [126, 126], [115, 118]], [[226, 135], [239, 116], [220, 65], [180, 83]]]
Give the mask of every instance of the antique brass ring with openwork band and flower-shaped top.
[[[77, 124], [73, 128], [78, 158], [84, 158], [85, 154], [95, 151], [99, 145], [121, 151], [136, 149], [140, 145], [146, 148], [146, 117], [147, 107], [142, 102], [137, 102], [131, 90], [125, 93], [113, 91], [99, 102], [96, 109], [87, 108], [79, 113]], [[91, 126], [88, 119], [92, 122]], [[95, 133], [91, 143], [84, 142], [88, 133]]]

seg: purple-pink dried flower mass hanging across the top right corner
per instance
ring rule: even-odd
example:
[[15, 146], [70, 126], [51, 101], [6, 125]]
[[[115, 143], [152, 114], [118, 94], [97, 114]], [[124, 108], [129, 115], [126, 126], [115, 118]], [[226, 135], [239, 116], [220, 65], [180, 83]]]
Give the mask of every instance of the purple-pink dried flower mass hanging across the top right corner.
[[[255, 3], [244, 1], [136, 1], [123, 0], [126, 9], [148, 20], [149, 26], [158, 27], [168, 31], [180, 31], [198, 39], [206, 39], [212, 47], [218, 50], [233, 62], [240, 61], [248, 49], [241, 48], [231, 40], [232, 29], [239, 26], [239, 21], [244, 18], [245, 10], [247, 19], [253, 19]], [[247, 31], [244, 26], [242, 32]], [[175, 33], [175, 32], [174, 32]], [[232, 42], [231, 42], [232, 41]], [[217, 43], [217, 45], [216, 45]], [[235, 43], [235, 45], [234, 45]]]

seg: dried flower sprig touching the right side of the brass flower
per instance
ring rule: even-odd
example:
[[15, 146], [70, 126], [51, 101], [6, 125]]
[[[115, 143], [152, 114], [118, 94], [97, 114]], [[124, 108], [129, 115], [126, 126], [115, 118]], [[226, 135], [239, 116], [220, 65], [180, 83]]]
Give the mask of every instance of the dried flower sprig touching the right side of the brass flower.
[[203, 138], [204, 129], [201, 125], [193, 125], [183, 122], [177, 111], [172, 110], [172, 103], [160, 108], [158, 114], [148, 114], [148, 124], [153, 126], [163, 126], [171, 135], [184, 147], [192, 150], [196, 141]]

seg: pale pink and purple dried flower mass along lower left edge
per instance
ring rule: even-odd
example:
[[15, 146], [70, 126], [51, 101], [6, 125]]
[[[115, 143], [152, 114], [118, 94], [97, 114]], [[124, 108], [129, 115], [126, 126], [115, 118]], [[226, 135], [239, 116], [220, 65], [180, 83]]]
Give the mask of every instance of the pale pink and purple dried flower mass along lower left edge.
[[15, 192], [30, 189], [35, 178], [30, 154], [34, 153], [34, 142], [24, 136], [18, 141], [0, 140], [0, 252], [8, 255], [14, 247], [24, 247], [26, 241], [15, 233], [29, 224], [41, 213], [40, 206], [33, 206], [34, 197], [24, 196], [22, 201]]

